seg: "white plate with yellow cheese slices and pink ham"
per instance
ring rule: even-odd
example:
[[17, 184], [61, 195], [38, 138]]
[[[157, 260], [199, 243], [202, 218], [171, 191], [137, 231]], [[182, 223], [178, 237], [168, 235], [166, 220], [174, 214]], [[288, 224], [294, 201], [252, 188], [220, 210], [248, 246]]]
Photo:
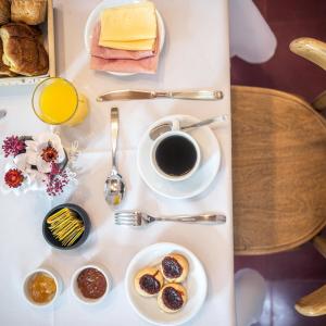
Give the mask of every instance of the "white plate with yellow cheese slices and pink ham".
[[103, 0], [89, 14], [84, 37], [91, 70], [117, 76], [154, 74], [165, 28], [151, 1]]

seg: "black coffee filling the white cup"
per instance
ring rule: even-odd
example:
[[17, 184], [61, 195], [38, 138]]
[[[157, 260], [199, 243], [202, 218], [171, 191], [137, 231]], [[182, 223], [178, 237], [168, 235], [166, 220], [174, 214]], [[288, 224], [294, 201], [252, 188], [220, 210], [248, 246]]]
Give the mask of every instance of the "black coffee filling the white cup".
[[193, 143], [181, 136], [170, 136], [156, 148], [159, 167], [171, 176], [187, 174], [196, 164], [197, 151]]

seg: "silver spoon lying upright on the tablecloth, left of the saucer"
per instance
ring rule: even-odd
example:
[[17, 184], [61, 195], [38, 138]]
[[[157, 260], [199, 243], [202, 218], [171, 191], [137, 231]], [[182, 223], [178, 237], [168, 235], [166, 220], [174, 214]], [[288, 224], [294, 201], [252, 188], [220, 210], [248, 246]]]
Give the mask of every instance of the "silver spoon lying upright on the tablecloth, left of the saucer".
[[111, 109], [111, 141], [112, 141], [112, 171], [104, 185], [105, 200], [110, 205], [118, 205], [125, 195], [125, 184], [116, 168], [116, 147], [118, 136], [118, 109]]

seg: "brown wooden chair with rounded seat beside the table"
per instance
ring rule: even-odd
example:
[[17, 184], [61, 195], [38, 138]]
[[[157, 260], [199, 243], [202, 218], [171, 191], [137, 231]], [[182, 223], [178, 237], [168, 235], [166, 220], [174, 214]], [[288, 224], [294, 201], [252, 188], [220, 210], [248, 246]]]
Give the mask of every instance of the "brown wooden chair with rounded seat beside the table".
[[[326, 43], [300, 38], [290, 49], [326, 70]], [[275, 253], [313, 239], [326, 256], [326, 239], [318, 236], [326, 225], [326, 91], [308, 103], [278, 90], [234, 86], [231, 108], [235, 253]], [[326, 286], [296, 309], [326, 314]]]

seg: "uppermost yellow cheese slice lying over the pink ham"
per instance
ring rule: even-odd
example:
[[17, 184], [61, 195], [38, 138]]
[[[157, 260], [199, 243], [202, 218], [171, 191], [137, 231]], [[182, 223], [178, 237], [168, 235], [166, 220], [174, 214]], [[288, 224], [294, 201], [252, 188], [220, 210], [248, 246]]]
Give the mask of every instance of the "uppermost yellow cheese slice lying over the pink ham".
[[139, 41], [156, 37], [155, 7], [150, 1], [109, 8], [101, 13], [102, 41]]

